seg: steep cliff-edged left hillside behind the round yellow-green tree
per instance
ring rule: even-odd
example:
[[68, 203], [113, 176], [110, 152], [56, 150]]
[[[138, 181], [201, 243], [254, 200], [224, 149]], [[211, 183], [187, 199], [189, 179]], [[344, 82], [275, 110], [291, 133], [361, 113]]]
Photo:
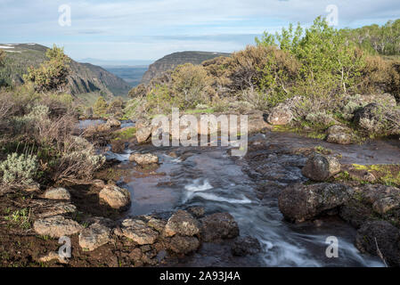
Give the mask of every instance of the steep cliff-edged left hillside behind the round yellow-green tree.
[[[37, 44], [0, 44], [0, 48], [6, 51], [5, 66], [0, 69], [0, 81], [8, 85], [22, 83], [22, 76], [27, 72], [28, 67], [37, 67], [45, 61], [45, 52], [48, 49]], [[130, 89], [123, 79], [90, 63], [71, 61], [70, 68], [70, 94], [99, 93], [112, 97], [124, 96]]]

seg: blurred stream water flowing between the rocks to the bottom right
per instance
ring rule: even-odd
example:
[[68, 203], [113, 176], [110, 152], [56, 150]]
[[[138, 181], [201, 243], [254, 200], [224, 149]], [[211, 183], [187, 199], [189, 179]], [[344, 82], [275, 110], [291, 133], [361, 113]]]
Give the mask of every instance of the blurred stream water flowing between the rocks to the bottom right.
[[[342, 154], [343, 163], [377, 164], [400, 161], [400, 145], [395, 141], [369, 142], [340, 146], [299, 137], [296, 134], [266, 134], [265, 142], [287, 148], [322, 145]], [[160, 166], [143, 173], [129, 162], [133, 152], [157, 154]], [[138, 146], [124, 154], [107, 153], [118, 159], [126, 175], [119, 183], [132, 194], [127, 215], [173, 211], [192, 206], [204, 207], [206, 213], [229, 212], [238, 222], [241, 235], [260, 240], [262, 252], [257, 256], [233, 257], [224, 246], [204, 245], [193, 256], [176, 265], [186, 266], [382, 266], [378, 258], [362, 255], [354, 246], [355, 229], [339, 218], [323, 219], [322, 224], [290, 224], [283, 220], [276, 197], [257, 195], [257, 179], [250, 178], [246, 159], [233, 158], [226, 148], [154, 148]], [[269, 167], [271, 183], [305, 181], [301, 167], [305, 157], [272, 153], [263, 167]], [[339, 257], [328, 258], [325, 243], [330, 236], [339, 240]]]

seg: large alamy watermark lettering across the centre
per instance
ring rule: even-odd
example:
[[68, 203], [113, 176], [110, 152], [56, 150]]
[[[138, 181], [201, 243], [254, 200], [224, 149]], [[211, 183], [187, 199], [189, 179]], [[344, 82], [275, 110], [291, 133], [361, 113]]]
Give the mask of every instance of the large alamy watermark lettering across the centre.
[[[154, 146], [233, 146], [233, 156], [244, 156], [248, 151], [247, 115], [193, 115], [180, 117], [173, 108], [171, 119], [158, 116], [151, 121], [151, 142]], [[219, 139], [218, 139], [218, 134]], [[200, 141], [199, 141], [200, 136]], [[209, 136], [209, 141], [208, 141]], [[170, 140], [170, 138], [172, 138]]]

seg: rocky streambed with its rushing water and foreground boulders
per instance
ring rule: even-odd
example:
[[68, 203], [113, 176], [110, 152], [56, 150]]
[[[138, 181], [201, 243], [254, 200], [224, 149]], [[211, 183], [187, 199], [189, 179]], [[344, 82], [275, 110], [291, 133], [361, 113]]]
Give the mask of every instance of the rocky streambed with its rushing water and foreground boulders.
[[[42, 198], [32, 236], [43, 241], [31, 258], [72, 266], [398, 265], [399, 190], [343, 176], [353, 165], [400, 161], [398, 142], [344, 146], [263, 133], [249, 138], [243, 158], [229, 147], [134, 139], [116, 150], [104, 140], [101, 180], [31, 190]], [[69, 260], [54, 253], [64, 235]], [[326, 255], [329, 237], [339, 241], [338, 257]]]

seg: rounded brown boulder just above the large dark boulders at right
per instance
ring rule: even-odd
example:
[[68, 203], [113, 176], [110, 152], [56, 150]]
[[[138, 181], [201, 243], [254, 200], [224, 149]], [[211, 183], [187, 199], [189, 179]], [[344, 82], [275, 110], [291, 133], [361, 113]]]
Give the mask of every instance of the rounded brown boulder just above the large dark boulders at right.
[[340, 172], [339, 160], [332, 156], [314, 154], [301, 173], [314, 181], [325, 181]]

